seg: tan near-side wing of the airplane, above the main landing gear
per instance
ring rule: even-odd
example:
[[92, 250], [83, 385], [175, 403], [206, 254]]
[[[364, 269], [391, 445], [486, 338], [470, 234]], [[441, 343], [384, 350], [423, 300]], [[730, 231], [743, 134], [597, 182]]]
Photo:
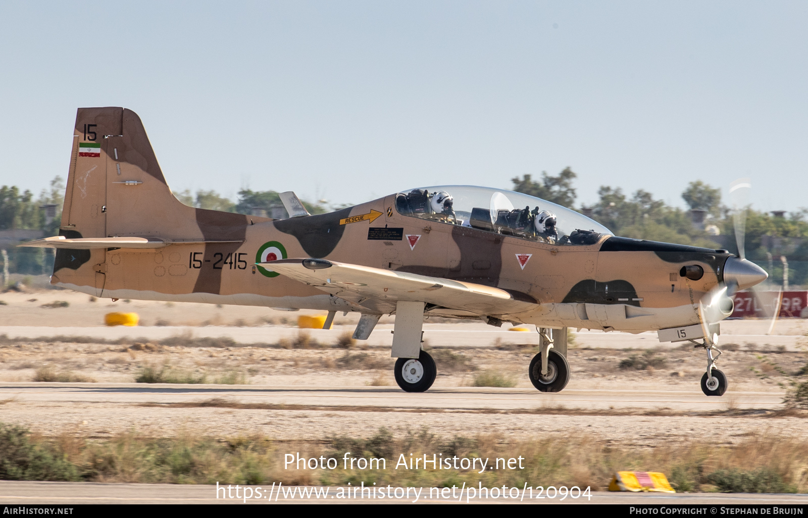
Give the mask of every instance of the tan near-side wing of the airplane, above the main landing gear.
[[377, 299], [377, 307], [395, 307], [396, 301], [405, 300], [478, 315], [505, 315], [537, 306], [528, 295], [513, 295], [492, 286], [325, 259], [280, 259], [257, 264], [332, 295], [358, 299], [360, 304], [367, 299]]

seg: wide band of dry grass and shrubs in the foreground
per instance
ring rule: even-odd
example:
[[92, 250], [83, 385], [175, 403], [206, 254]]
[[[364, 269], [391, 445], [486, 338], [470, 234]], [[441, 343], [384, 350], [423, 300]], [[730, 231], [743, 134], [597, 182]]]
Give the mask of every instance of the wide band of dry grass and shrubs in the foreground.
[[[267, 437], [213, 439], [191, 432], [174, 438], [140, 437], [134, 432], [91, 441], [75, 433], [46, 439], [0, 424], [6, 459], [0, 478], [169, 482], [345, 485], [380, 484], [493, 487], [506, 484], [579, 486], [603, 490], [618, 470], [662, 471], [677, 491], [808, 491], [808, 443], [781, 437], [751, 437], [734, 446], [693, 441], [657, 449], [615, 448], [596, 437], [550, 437], [508, 441], [489, 434], [437, 437], [427, 429], [393, 435], [385, 428], [372, 437], [326, 437], [322, 441], [276, 443]], [[7, 437], [6, 437], [7, 436]], [[385, 470], [284, 469], [284, 453], [301, 457], [349, 456], [387, 459]], [[396, 470], [399, 453], [442, 457], [524, 458], [524, 470]], [[36, 458], [38, 462], [32, 462]], [[27, 466], [36, 466], [31, 470]], [[12, 474], [13, 476], [8, 476]]]

